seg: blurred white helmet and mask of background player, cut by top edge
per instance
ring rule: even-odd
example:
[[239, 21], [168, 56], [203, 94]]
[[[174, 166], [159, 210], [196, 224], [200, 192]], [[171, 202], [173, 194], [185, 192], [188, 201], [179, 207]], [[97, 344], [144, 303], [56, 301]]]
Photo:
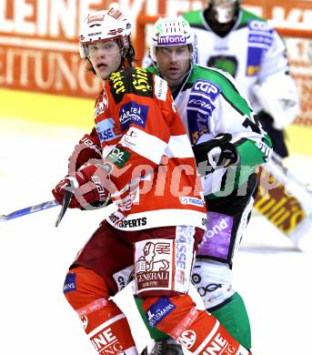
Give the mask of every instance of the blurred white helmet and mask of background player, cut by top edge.
[[208, 0], [208, 6], [213, 11], [219, 24], [228, 24], [237, 14], [240, 0]]

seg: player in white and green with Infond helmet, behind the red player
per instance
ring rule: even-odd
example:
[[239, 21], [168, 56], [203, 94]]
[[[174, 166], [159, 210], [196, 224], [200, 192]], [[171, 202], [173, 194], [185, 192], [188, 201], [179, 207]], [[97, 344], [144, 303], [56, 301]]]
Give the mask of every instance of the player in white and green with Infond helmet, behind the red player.
[[[207, 206], [206, 235], [192, 281], [205, 308], [247, 349], [250, 325], [244, 300], [233, 289], [233, 259], [247, 226], [257, 188], [256, 167], [266, 163], [271, 141], [232, 76], [195, 65], [196, 41], [186, 20], [160, 18], [150, 38], [150, 70], [166, 79], [191, 141]], [[166, 334], [148, 326], [152, 354], [181, 353]]]

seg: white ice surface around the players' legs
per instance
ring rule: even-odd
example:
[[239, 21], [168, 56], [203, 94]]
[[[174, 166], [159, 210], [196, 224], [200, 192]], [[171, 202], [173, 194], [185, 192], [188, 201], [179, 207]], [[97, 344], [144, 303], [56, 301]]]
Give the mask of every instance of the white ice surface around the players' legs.
[[[83, 133], [0, 120], [0, 214], [52, 199], [50, 191], [65, 175], [67, 157]], [[102, 211], [68, 210], [55, 228], [58, 212], [58, 207], [50, 208], [0, 224], [1, 355], [96, 353], [62, 287], [69, 264], [101, 221]], [[253, 353], [309, 353], [311, 255], [294, 249], [256, 215], [234, 270], [252, 324]], [[130, 289], [115, 299], [142, 350], [149, 338]]]

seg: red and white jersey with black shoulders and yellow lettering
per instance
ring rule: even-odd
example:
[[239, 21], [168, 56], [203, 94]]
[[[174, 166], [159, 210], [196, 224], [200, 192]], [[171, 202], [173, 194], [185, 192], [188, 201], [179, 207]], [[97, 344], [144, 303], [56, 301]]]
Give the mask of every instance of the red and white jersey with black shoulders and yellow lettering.
[[96, 99], [95, 120], [116, 186], [112, 226], [206, 228], [192, 147], [165, 80], [137, 67], [113, 73]]

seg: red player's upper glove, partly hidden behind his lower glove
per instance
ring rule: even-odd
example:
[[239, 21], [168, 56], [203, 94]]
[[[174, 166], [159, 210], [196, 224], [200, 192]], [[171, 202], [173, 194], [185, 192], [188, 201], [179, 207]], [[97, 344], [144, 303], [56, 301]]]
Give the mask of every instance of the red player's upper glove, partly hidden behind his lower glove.
[[69, 174], [77, 171], [88, 161], [93, 164], [90, 159], [102, 159], [102, 150], [97, 137], [96, 128], [93, 128], [89, 135], [86, 134], [82, 137], [75, 146], [72, 155], [68, 159]]

